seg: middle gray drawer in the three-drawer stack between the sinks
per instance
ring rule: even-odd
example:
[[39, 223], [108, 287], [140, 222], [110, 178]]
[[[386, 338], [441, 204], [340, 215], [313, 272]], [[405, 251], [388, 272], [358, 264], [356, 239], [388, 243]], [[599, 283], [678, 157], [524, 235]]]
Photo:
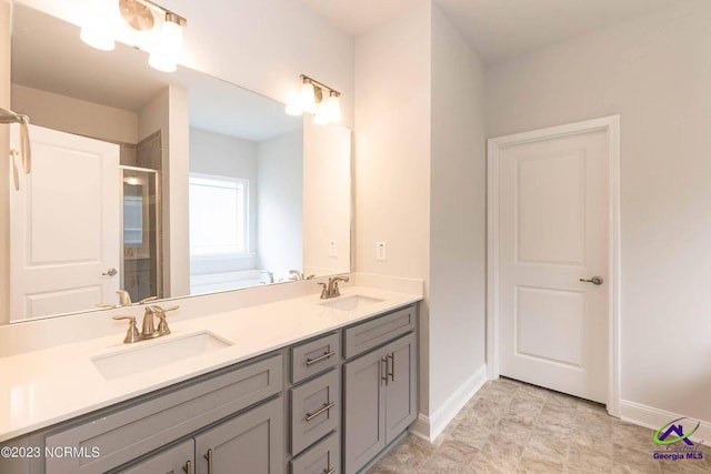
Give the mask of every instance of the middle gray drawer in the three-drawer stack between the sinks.
[[331, 431], [341, 418], [340, 374], [331, 371], [291, 389], [291, 454], [297, 455]]

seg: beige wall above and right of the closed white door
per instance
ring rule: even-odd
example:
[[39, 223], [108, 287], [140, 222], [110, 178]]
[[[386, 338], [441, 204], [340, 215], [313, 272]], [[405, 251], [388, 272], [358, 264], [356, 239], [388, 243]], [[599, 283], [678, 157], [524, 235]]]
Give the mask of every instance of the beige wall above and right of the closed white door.
[[710, 27], [710, 2], [679, 2], [487, 73], [490, 137], [621, 115], [622, 399], [705, 421]]

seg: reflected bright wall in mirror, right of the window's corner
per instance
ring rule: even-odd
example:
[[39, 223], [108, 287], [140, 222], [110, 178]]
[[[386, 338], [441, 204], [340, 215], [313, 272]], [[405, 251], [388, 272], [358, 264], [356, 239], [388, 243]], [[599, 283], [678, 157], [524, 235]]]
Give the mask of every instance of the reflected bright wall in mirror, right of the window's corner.
[[257, 242], [259, 268], [303, 269], [303, 131], [257, 145]]

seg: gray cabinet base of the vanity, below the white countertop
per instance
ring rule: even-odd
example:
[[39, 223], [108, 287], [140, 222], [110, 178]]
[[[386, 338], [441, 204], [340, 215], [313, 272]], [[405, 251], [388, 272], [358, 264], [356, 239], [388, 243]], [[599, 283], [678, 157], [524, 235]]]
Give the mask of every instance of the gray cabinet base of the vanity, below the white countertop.
[[0, 474], [353, 474], [417, 413], [412, 304], [10, 440], [60, 454]]

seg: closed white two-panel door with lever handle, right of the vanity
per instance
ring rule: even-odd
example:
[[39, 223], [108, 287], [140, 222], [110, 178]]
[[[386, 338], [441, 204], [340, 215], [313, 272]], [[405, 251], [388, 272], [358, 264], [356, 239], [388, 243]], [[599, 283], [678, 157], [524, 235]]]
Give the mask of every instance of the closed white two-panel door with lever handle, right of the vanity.
[[605, 402], [607, 132], [499, 153], [500, 373]]

